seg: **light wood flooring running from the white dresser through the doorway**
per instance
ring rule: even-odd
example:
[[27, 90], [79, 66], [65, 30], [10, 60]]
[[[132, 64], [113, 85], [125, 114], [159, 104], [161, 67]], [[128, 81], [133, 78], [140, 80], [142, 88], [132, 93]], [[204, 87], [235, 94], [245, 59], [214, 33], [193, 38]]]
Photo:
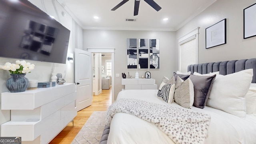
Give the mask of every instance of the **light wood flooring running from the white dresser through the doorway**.
[[111, 102], [111, 88], [102, 90], [102, 93], [98, 96], [93, 95], [92, 105], [77, 112], [77, 116], [74, 118], [74, 126], [70, 122], [49, 144], [71, 144], [92, 112], [107, 110]]

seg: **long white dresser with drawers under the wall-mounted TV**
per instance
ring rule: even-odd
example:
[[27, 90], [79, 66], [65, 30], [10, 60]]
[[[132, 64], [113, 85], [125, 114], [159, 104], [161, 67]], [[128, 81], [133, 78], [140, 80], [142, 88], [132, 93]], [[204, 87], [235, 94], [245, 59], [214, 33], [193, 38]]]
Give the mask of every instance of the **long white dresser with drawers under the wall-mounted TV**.
[[21, 137], [22, 144], [48, 144], [77, 115], [75, 84], [25, 92], [1, 93], [1, 109], [11, 121], [1, 125], [1, 137]]

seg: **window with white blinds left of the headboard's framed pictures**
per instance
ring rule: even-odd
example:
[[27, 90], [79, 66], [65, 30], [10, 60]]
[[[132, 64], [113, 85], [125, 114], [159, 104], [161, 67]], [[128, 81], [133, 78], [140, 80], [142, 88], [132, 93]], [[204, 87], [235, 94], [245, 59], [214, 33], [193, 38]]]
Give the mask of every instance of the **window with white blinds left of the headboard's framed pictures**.
[[198, 29], [179, 38], [179, 71], [187, 72], [188, 65], [198, 63]]

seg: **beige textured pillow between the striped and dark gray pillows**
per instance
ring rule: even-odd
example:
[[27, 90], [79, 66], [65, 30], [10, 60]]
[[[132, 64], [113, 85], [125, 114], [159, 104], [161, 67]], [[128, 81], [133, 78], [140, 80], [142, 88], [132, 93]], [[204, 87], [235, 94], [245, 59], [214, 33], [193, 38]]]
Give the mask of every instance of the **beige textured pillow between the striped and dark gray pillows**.
[[184, 81], [178, 76], [175, 86], [174, 101], [184, 108], [191, 108], [194, 103], [194, 85], [190, 78]]

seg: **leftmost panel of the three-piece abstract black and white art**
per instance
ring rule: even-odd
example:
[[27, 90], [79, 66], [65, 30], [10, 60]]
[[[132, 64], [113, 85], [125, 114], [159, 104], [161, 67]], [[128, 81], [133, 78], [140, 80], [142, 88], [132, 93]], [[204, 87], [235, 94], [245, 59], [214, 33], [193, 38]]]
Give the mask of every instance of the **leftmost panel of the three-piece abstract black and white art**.
[[127, 68], [137, 68], [136, 38], [127, 38]]

